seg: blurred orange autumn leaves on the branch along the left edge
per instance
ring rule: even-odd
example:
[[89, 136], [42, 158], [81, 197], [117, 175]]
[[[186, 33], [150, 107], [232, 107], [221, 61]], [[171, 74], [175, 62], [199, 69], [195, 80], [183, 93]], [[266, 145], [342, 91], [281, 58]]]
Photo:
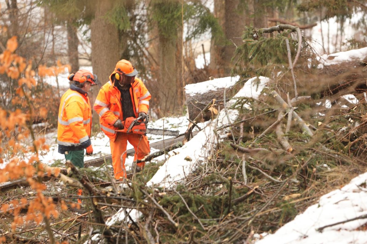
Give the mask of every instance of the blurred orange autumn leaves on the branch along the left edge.
[[[33, 178], [35, 175], [50, 174], [39, 161], [39, 152], [48, 151], [46, 139], [35, 138], [30, 126], [32, 118], [46, 118], [50, 108], [46, 108], [46, 99], [34, 96], [32, 89], [39, 82], [36, 81], [36, 75], [58, 75], [65, 72], [66, 67], [70, 70], [70, 66], [58, 62], [57, 67], [39, 65], [36, 72], [32, 69], [32, 62], [15, 53], [17, 48], [17, 37], [11, 37], [7, 41], [6, 49], [0, 54], [0, 74], [6, 75], [18, 85], [15, 93], [8, 97], [14, 109], [0, 107], [0, 165], [6, 160], [6, 164], [1, 165], [0, 183], [26, 178], [34, 196], [30, 197], [32, 200], [12, 199], [0, 206], [1, 212], [14, 216], [11, 224], [13, 232], [18, 226], [39, 224], [45, 218], [57, 218], [59, 215], [52, 198], [45, 197], [42, 193], [46, 186]], [[65, 208], [65, 203], [62, 203], [61, 209]], [[27, 210], [26, 214], [21, 214], [22, 209]], [[6, 241], [5, 236], [0, 236], [0, 243]]]

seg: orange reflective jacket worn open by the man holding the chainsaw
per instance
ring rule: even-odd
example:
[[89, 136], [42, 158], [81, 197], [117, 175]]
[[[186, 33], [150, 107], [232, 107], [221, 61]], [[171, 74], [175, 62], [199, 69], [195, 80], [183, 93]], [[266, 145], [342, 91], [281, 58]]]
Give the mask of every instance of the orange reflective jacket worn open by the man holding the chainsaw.
[[[150, 93], [146, 89], [143, 82], [135, 78], [131, 83], [130, 95], [135, 117], [138, 117], [139, 112], [148, 113]], [[117, 119], [123, 121], [122, 106], [120, 100], [121, 93], [119, 89], [111, 81], [107, 82], [99, 90], [97, 99], [94, 103], [94, 110], [99, 114], [99, 123], [102, 131], [112, 140], [116, 140], [117, 128], [113, 124]]]

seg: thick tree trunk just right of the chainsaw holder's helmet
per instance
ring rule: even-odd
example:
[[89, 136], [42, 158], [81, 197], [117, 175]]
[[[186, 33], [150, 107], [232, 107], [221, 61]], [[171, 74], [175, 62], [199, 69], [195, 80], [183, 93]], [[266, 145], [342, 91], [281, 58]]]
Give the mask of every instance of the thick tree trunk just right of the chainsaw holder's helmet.
[[[160, 18], [172, 18], [170, 11], [182, 9], [179, 2], [151, 1], [152, 15], [160, 14]], [[153, 80], [156, 86], [150, 91], [155, 103], [155, 113], [159, 117], [167, 116], [175, 112], [183, 104], [182, 82], [182, 18], [181, 15], [174, 19], [168, 19], [168, 24], [163, 25], [159, 21], [153, 21], [152, 55], [158, 63], [158, 69], [152, 69]], [[174, 28], [172, 28], [174, 25]]]

